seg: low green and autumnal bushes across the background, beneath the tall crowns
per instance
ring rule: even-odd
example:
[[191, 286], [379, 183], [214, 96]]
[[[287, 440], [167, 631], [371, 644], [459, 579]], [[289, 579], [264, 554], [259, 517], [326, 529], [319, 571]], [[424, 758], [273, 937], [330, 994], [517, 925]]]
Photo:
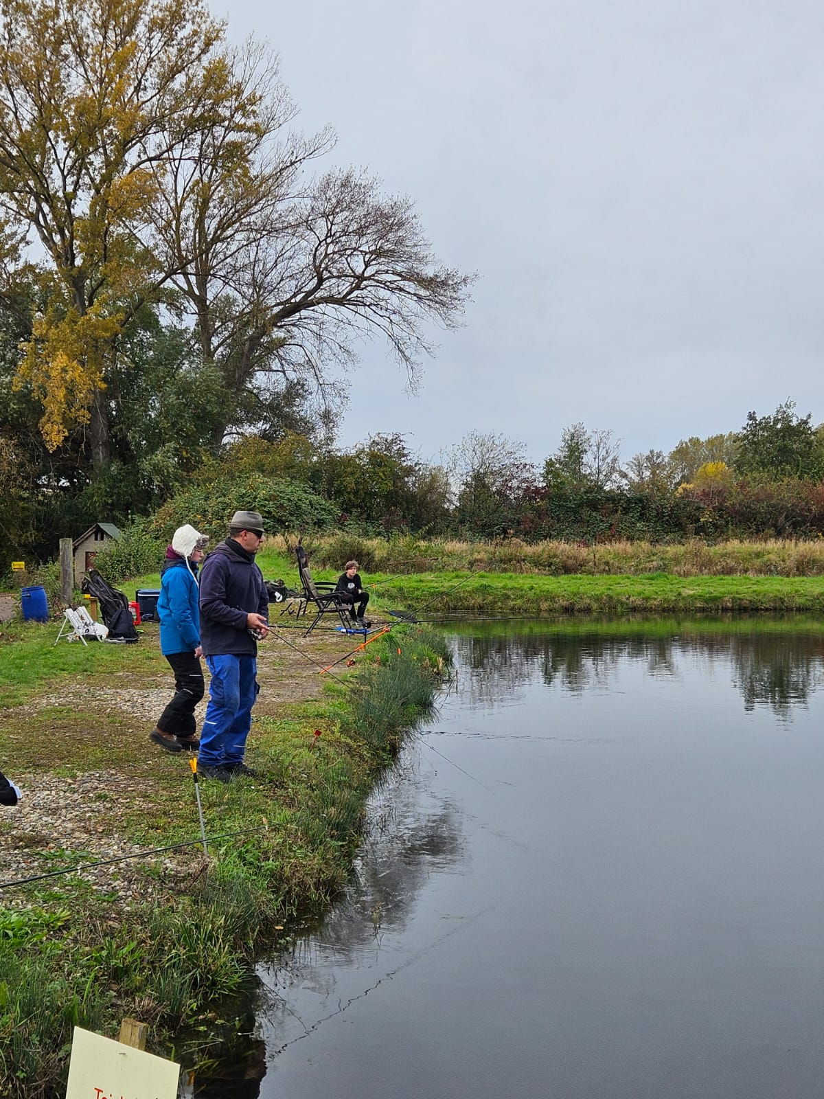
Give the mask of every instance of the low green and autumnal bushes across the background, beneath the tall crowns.
[[[143, 349], [153, 377], [175, 375], [181, 344], [159, 326], [151, 335]], [[37, 446], [36, 410], [21, 391], [10, 392], [0, 409], [2, 567], [14, 555], [53, 556], [59, 535], [98, 519], [134, 524], [145, 517], [138, 526], [166, 537], [185, 521], [220, 530], [244, 502], [261, 510], [272, 531], [587, 544], [824, 535], [824, 437], [791, 401], [770, 415], [750, 412], [737, 432], [682, 440], [668, 454], [650, 451], [625, 463], [610, 431], [574, 424], [538, 469], [523, 444], [478, 432], [435, 464], [400, 434], [338, 447], [297, 384], [265, 429], [215, 449], [209, 402], [199, 387], [187, 389], [182, 375], [179, 389], [158, 387], [163, 400], [132, 379], [134, 404], [123, 401], [116, 435], [124, 457], [97, 479], [73, 467], [66, 451]], [[130, 464], [125, 455], [138, 446], [143, 458]]]

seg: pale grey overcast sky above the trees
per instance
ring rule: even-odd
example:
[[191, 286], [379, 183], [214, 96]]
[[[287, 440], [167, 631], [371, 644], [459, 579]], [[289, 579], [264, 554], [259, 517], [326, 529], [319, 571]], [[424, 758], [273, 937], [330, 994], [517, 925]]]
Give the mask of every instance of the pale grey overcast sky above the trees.
[[409, 195], [478, 273], [420, 393], [382, 344], [339, 441], [610, 428], [625, 458], [784, 399], [824, 420], [824, 7], [814, 0], [237, 0], [331, 164]]

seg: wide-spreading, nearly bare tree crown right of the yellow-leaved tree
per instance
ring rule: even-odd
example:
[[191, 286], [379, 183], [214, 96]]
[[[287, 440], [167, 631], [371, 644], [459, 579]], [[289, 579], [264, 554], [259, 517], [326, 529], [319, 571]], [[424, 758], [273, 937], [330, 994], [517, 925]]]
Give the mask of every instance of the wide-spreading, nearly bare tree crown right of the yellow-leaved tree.
[[414, 386], [434, 351], [428, 325], [459, 323], [472, 277], [436, 262], [411, 201], [382, 195], [377, 179], [309, 177], [334, 135], [290, 129], [294, 109], [260, 47], [247, 45], [233, 66], [238, 119], [254, 101], [256, 126], [227, 115], [177, 151], [159, 188], [163, 262], [178, 271], [204, 359], [238, 397], [301, 378], [339, 406], [341, 368], [360, 341], [383, 337]]

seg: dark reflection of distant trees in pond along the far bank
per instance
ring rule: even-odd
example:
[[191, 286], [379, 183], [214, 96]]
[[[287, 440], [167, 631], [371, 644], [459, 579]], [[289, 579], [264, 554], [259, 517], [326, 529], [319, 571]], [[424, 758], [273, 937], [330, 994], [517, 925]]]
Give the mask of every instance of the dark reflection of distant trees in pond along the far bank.
[[699, 658], [708, 673], [731, 676], [746, 710], [769, 706], [782, 719], [824, 681], [824, 640], [812, 633], [490, 633], [453, 644], [465, 697], [488, 706], [536, 677], [572, 693], [606, 690], [625, 660], [643, 662], [653, 676], [678, 676], [688, 657]]

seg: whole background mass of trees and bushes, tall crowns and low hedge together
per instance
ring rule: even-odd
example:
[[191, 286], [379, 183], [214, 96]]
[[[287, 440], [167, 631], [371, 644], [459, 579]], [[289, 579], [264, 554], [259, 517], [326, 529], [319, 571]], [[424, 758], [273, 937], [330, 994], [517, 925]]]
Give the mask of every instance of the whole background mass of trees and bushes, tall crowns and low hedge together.
[[399, 434], [336, 446], [359, 341], [414, 385], [472, 276], [408, 199], [315, 171], [334, 135], [294, 115], [276, 58], [203, 0], [0, 8], [0, 571], [96, 520], [221, 520], [238, 493], [281, 528], [824, 533], [822, 432], [789, 400], [625, 463], [581, 423], [543, 468], [494, 434], [438, 463]]

